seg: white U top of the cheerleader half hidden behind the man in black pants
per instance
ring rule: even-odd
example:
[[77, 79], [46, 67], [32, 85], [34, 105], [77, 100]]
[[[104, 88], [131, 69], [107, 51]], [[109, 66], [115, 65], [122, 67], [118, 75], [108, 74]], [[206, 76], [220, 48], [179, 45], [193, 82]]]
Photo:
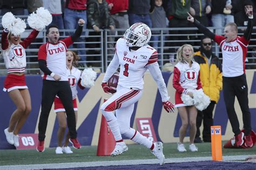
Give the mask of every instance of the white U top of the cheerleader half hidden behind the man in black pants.
[[71, 70], [67, 67], [66, 75], [68, 76], [72, 97], [74, 99], [77, 96], [77, 83], [80, 79], [81, 71], [74, 66], [72, 66]]

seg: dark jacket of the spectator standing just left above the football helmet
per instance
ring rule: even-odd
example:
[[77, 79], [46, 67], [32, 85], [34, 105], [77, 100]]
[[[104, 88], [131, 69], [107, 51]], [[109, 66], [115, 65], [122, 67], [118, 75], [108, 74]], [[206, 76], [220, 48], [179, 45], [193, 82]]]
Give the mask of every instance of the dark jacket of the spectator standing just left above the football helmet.
[[[87, 22], [88, 28], [92, 29], [93, 25], [98, 26], [100, 29], [106, 28], [109, 29], [110, 25], [114, 26], [114, 20], [110, 15], [108, 4], [103, 0], [104, 11], [99, 11], [99, 3], [97, 0], [87, 1]], [[100, 18], [100, 12], [104, 13], [104, 18]]]

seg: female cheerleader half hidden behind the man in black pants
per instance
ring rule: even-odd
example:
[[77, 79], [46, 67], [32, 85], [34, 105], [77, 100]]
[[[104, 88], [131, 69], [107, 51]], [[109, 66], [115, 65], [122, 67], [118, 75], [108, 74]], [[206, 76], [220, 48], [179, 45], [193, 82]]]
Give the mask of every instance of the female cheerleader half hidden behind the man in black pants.
[[[80, 89], [84, 89], [84, 87], [80, 83], [80, 76], [81, 76], [81, 71], [75, 67], [76, 63], [79, 60], [79, 56], [72, 51], [67, 51], [66, 52], [66, 66], [67, 66], [67, 72], [66, 75], [68, 76], [69, 83], [70, 83], [70, 88], [72, 91], [72, 97], [73, 97], [73, 106], [74, 106], [74, 111], [76, 115], [76, 122], [77, 122], [77, 85], [79, 86]], [[74, 79], [75, 78], [75, 79]], [[54, 100], [54, 111], [56, 112], [56, 116], [58, 119], [59, 123], [59, 129], [57, 132], [57, 142], [58, 146], [55, 150], [56, 154], [62, 154], [64, 153], [73, 153], [71, 151], [71, 148], [68, 146], [69, 144], [69, 132], [66, 134], [66, 139], [64, 142], [64, 145], [62, 143], [65, 130], [66, 130], [66, 111], [65, 108], [62, 104], [62, 101], [60, 101], [60, 98], [58, 96], [55, 97]]]

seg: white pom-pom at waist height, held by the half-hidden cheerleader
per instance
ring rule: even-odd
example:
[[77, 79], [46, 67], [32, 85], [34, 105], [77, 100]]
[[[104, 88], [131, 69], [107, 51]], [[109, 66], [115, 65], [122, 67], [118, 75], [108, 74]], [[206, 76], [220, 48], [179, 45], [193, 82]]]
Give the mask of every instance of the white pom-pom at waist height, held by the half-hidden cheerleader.
[[91, 88], [94, 86], [97, 73], [92, 68], [85, 68], [81, 75], [81, 85], [85, 88]]

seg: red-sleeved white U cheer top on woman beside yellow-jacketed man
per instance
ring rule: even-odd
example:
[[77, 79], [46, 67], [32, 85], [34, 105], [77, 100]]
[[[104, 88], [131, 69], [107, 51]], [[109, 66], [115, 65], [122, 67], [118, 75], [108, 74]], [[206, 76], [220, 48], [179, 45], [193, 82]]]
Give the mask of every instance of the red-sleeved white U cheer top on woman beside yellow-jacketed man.
[[[179, 81], [180, 87], [174, 87], [179, 92], [182, 92], [183, 89], [197, 89], [198, 80], [200, 80], [200, 66], [196, 61], [193, 61], [192, 66], [185, 62], [178, 62], [174, 67], [174, 74], [178, 73], [180, 76], [177, 77], [173, 75], [173, 82]], [[199, 81], [200, 82], [200, 81]]]

